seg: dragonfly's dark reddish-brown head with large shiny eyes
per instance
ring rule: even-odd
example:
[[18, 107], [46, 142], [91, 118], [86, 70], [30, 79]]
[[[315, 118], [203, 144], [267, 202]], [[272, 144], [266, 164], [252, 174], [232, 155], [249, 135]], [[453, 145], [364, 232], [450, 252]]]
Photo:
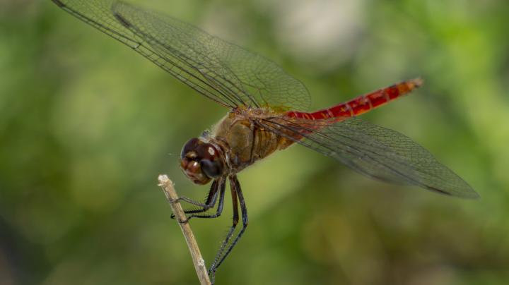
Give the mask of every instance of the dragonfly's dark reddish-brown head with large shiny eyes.
[[218, 147], [192, 138], [180, 153], [180, 168], [196, 184], [204, 185], [223, 174], [224, 164]]

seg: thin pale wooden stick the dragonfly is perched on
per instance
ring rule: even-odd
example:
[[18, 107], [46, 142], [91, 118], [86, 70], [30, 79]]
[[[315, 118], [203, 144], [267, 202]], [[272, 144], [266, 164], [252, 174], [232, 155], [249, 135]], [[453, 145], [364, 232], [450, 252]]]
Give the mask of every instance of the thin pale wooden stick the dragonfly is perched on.
[[173, 214], [175, 214], [175, 219], [179, 222], [180, 229], [182, 230], [182, 234], [184, 234], [184, 238], [187, 243], [187, 247], [191, 252], [191, 257], [194, 263], [194, 269], [196, 269], [198, 279], [201, 285], [210, 285], [211, 281], [209, 279], [209, 274], [207, 273], [207, 269], [205, 267], [205, 261], [203, 257], [201, 257], [201, 253], [198, 248], [198, 243], [194, 238], [194, 234], [192, 233], [191, 226], [189, 226], [186, 221], [186, 216], [184, 210], [182, 210], [182, 205], [178, 202], [178, 196], [175, 192], [175, 188], [173, 186], [173, 182], [166, 175], [160, 175], [159, 178], [159, 186], [163, 188], [166, 199], [170, 202], [170, 207], [172, 208]]

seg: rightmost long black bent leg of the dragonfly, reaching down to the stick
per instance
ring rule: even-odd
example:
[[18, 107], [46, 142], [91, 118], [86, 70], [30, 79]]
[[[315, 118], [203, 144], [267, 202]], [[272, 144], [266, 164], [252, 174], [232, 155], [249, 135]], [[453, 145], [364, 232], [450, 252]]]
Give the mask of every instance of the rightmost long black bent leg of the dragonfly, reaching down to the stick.
[[[223, 261], [226, 259], [228, 254], [233, 250], [233, 247], [238, 243], [240, 240], [240, 237], [242, 234], [244, 234], [245, 229], [247, 228], [247, 207], [245, 205], [244, 195], [242, 195], [242, 190], [240, 188], [240, 183], [237, 179], [237, 176], [233, 175], [230, 176], [230, 190], [232, 193], [232, 202], [233, 202], [233, 225], [230, 228], [230, 231], [228, 231], [228, 234], [225, 238], [225, 241], [223, 241], [223, 244], [221, 245], [221, 248], [218, 251], [218, 254], [216, 255], [216, 258], [214, 258], [214, 262], [211, 265], [211, 268], [209, 269], [209, 275], [213, 278], [214, 274], [216, 273], [217, 268]], [[240, 229], [237, 236], [235, 236], [235, 239], [232, 243], [230, 243], [230, 239], [233, 236], [233, 231], [235, 231], [235, 226], [238, 224], [238, 202], [240, 202], [240, 211], [242, 213], [242, 229]], [[229, 246], [228, 246], [229, 244]], [[228, 249], [226, 249], [228, 246]]]

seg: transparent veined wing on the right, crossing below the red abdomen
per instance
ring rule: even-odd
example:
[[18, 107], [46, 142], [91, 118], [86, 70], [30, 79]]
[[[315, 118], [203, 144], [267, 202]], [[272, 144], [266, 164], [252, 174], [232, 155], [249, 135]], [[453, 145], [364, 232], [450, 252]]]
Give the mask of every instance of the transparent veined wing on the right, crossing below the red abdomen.
[[260, 123], [372, 178], [462, 198], [479, 198], [460, 176], [397, 131], [356, 118], [334, 121], [278, 117]]

